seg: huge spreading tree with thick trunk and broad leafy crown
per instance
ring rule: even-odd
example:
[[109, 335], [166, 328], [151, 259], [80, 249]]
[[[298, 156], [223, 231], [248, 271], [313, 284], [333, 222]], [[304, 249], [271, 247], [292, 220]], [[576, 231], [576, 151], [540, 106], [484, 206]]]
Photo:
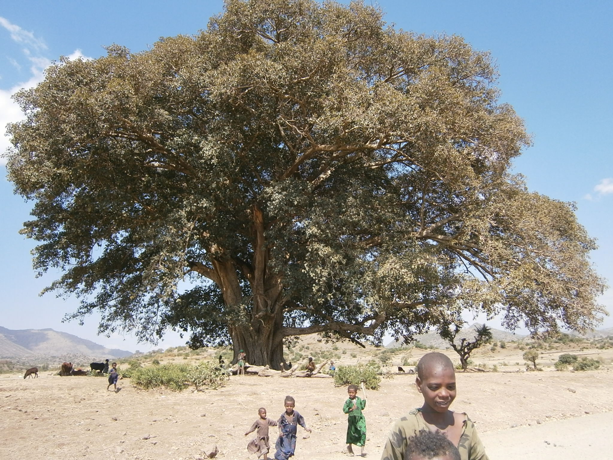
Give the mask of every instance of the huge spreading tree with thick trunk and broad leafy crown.
[[101, 332], [273, 367], [287, 337], [411, 339], [465, 309], [592, 326], [595, 243], [509, 174], [529, 138], [495, 77], [359, 2], [227, 0], [197, 36], [61, 59], [9, 127], [34, 267]]

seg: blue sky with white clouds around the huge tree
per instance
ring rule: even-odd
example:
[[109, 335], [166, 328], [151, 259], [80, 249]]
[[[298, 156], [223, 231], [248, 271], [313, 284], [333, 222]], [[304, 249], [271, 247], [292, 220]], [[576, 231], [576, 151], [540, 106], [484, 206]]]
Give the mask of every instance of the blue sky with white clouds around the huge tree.
[[[458, 34], [478, 50], [489, 50], [500, 71], [501, 101], [524, 118], [534, 145], [515, 162], [531, 190], [576, 202], [579, 221], [600, 248], [592, 254], [598, 273], [613, 282], [613, 2], [610, 1], [395, 1], [378, 5], [386, 20], [416, 33]], [[0, 7], [1, 134], [20, 112], [10, 94], [42, 79], [59, 56], [97, 58], [113, 43], [133, 52], [159, 37], [194, 34], [223, 2], [57, 1], [4, 2]], [[0, 136], [0, 150], [9, 145]], [[110, 348], [149, 350], [131, 335], [96, 337], [97, 318], [80, 326], [61, 323], [77, 307], [74, 298], [39, 297], [58, 277], [36, 279], [31, 269], [34, 243], [18, 234], [31, 205], [12, 193], [0, 165], [0, 326], [53, 328]], [[613, 290], [600, 302], [613, 312]], [[495, 323], [492, 323], [495, 326]], [[603, 327], [613, 326], [611, 316]], [[168, 334], [158, 347], [182, 345]]]

